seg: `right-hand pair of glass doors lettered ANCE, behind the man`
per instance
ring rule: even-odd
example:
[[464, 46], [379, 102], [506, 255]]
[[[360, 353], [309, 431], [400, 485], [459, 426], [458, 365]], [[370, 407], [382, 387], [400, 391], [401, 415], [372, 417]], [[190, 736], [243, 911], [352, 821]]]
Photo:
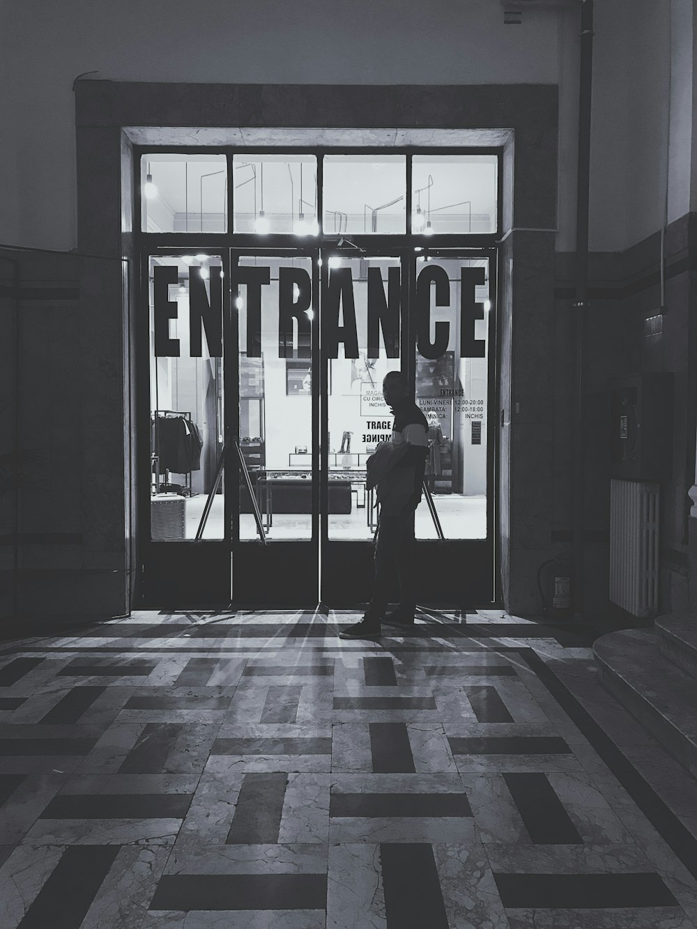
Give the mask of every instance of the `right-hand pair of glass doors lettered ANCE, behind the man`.
[[[322, 263], [322, 600], [331, 606], [372, 593], [379, 502], [366, 489], [366, 462], [379, 442], [392, 440], [382, 381], [395, 370], [407, 374], [428, 422], [414, 520], [417, 598], [469, 608], [493, 601], [491, 257], [412, 251]], [[349, 509], [336, 512], [330, 495], [342, 483], [350, 486]]]

